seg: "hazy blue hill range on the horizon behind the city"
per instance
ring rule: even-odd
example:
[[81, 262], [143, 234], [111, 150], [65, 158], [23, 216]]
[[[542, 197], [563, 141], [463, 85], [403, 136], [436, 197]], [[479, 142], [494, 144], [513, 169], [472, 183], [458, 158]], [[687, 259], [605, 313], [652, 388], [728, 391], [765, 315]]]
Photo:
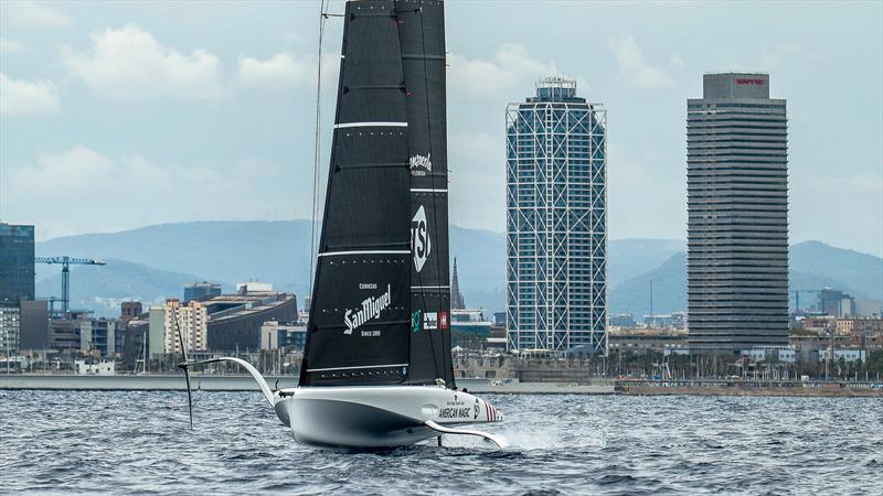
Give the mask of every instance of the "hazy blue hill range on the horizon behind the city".
[[[460, 287], [472, 308], [501, 311], [506, 304], [506, 236], [450, 226], [450, 256], [457, 257]], [[655, 311], [685, 310], [684, 242], [670, 239], [618, 239], [609, 244], [608, 281], [611, 313], [649, 311], [649, 279], [655, 282]], [[81, 268], [72, 292], [83, 302], [118, 300], [131, 294], [152, 299], [179, 295], [195, 279], [225, 284], [247, 280], [307, 292], [310, 270], [310, 223], [200, 222], [148, 226], [111, 234], [55, 238], [36, 245], [39, 256], [103, 258], [104, 268]], [[843, 289], [857, 299], [883, 299], [883, 259], [819, 241], [790, 250], [791, 289]], [[114, 260], [111, 263], [109, 260]], [[129, 262], [125, 266], [125, 262]], [[120, 263], [117, 271], [114, 267]], [[108, 279], [98, 278], [109, 274]], [[58, 293], [57, 268], [38, 266], [38, 295]], [[161, 282], [167, 278], [170, 282]], [[138, 291], [127, 284], [141, 284]], [[810, 298], [809, 295], [807, 298]], [[801, 302], [802, 304], [802, 302]]]

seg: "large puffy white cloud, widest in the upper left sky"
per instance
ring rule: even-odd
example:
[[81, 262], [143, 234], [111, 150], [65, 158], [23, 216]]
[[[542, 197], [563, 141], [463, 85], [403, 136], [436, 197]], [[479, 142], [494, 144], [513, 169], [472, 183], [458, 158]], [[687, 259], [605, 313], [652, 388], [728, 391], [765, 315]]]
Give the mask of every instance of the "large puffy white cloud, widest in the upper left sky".
[[92, 41], [85, 52], [64, 48], [62, 55], [71, 74], [98, 95], [214, 98], [226, 93], [221, 61], [205, 50], [183, 54], [132, 24], [93, 34]]

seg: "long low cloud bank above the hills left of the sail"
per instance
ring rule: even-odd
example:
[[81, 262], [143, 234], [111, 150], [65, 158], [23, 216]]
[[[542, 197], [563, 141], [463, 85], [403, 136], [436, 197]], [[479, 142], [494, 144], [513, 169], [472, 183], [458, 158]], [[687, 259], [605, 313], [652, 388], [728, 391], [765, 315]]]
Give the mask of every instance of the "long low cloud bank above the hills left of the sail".
[[[41, 238], [167, 222], [290, 218], [296, 181], [284, 175], [288, 172], [263, 158], [203, 166], [76, 145], [39, 153], [33, 162], [6, 171], [4, 215], [38, 223]], [[308, 191], [305, 184], [295, 194]], [[58, 205], [72, 207], [60, 211]]]

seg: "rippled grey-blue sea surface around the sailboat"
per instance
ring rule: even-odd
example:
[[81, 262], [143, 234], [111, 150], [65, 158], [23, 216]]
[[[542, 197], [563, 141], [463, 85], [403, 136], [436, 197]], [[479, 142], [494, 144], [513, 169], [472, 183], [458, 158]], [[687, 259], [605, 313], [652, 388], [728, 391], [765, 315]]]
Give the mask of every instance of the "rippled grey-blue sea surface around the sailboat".
[[494, 396], [511, 448], [295, 443], [258, 392], [0, 391], [0, 493], [883, 492], [883, 400]]

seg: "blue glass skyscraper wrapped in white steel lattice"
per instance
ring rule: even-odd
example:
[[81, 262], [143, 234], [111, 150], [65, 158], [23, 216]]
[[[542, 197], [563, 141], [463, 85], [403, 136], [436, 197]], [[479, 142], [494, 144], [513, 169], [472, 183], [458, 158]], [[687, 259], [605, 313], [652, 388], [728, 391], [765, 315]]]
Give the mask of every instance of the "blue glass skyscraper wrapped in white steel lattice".
[[552, 77], [506, 117], [509, 347], [606, 353], [607, 111]]

